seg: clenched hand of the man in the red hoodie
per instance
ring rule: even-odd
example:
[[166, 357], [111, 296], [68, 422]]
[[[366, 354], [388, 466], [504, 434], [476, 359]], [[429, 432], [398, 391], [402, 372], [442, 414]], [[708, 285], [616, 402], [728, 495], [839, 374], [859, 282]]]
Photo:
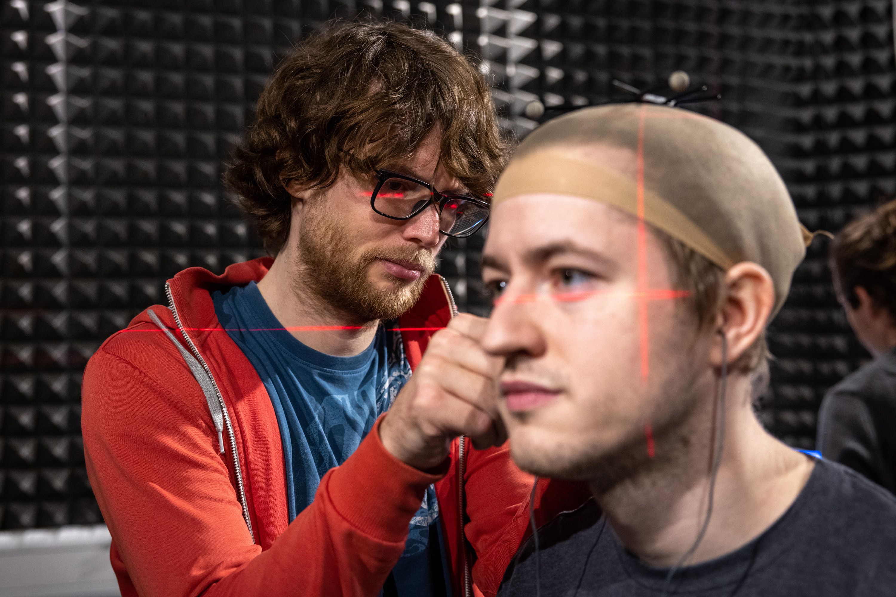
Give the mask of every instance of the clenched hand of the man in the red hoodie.
[[417, 371], [380, 425], [380, 439], [392, 456], [426, 470], [442, 463], [459, 435], [469, 436], [478, 449], [507, 439], [497, 412], [504, 358], [479, 346], [487, 323], [461, 313], [429, 341]]

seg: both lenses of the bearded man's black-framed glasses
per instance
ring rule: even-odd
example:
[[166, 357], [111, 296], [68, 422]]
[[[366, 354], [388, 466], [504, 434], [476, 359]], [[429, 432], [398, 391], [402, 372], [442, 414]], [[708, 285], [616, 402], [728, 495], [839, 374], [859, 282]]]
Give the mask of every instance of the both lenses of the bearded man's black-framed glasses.
[[[429, 201], [432, 193], [423, 184], [403, 178], [387, 178], [374, 200], [386, 216], [408, 217]], [[470, 233], [488, 217], [488, 209], [460, 196], [448, 197], [439, 215], [439, 229], [450, 235]]]

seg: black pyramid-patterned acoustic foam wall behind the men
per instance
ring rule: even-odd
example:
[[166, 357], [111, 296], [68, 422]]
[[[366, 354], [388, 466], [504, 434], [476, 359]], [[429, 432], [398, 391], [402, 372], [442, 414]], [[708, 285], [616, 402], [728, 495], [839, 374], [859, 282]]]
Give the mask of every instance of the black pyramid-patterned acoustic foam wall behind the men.
[[[684, 69], [696, 109], [750, 134], [810, 228], [836, 231], [894, 185], [891, 3], [757, 0], [171, 0], [0, 4], [0, 528], [99, 522], [83, 468], [80, 379], [99, 343], [163, 303], [167, 277], [262, 254], [221, 163], [293, 40], [332, 15], [426, 22], [483, 57], [502, 123], [606, 101], [614, 78]], [[486, 314], [483, 236], [440, 271]], [[771, 330], [763, 422], [811, 447], [823, 391], [865, 358], [816, 241]]]

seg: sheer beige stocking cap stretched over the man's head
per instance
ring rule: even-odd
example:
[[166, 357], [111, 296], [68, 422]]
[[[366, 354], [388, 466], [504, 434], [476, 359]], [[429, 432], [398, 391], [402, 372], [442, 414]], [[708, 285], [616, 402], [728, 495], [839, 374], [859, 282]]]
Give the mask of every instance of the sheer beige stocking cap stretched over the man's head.
[[[590, 145], [631, 149], [634, 174], [575, 150]], [[493, 203], [533, 193], [599, 200], [643, 217], [722, 269], [758, 263], [774, 281], [772, 315], [812, 238], [758, 145], [680, 108], [590, 107], [543, 124], [521, 142]]]

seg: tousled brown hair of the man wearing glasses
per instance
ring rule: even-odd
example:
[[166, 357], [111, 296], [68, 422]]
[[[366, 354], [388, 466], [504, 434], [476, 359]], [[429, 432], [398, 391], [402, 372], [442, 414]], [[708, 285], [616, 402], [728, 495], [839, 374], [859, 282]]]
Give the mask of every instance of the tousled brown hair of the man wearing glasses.
[[225, 183], [271, 255], [289, 235], [284, 188], [324, 188], [396, 166], [440, 134], [440, 163], [486, 196], [510, 141], [473, 59], [427, 30], [396, 22], [332, 22], [287, 55], [263, 90]]

